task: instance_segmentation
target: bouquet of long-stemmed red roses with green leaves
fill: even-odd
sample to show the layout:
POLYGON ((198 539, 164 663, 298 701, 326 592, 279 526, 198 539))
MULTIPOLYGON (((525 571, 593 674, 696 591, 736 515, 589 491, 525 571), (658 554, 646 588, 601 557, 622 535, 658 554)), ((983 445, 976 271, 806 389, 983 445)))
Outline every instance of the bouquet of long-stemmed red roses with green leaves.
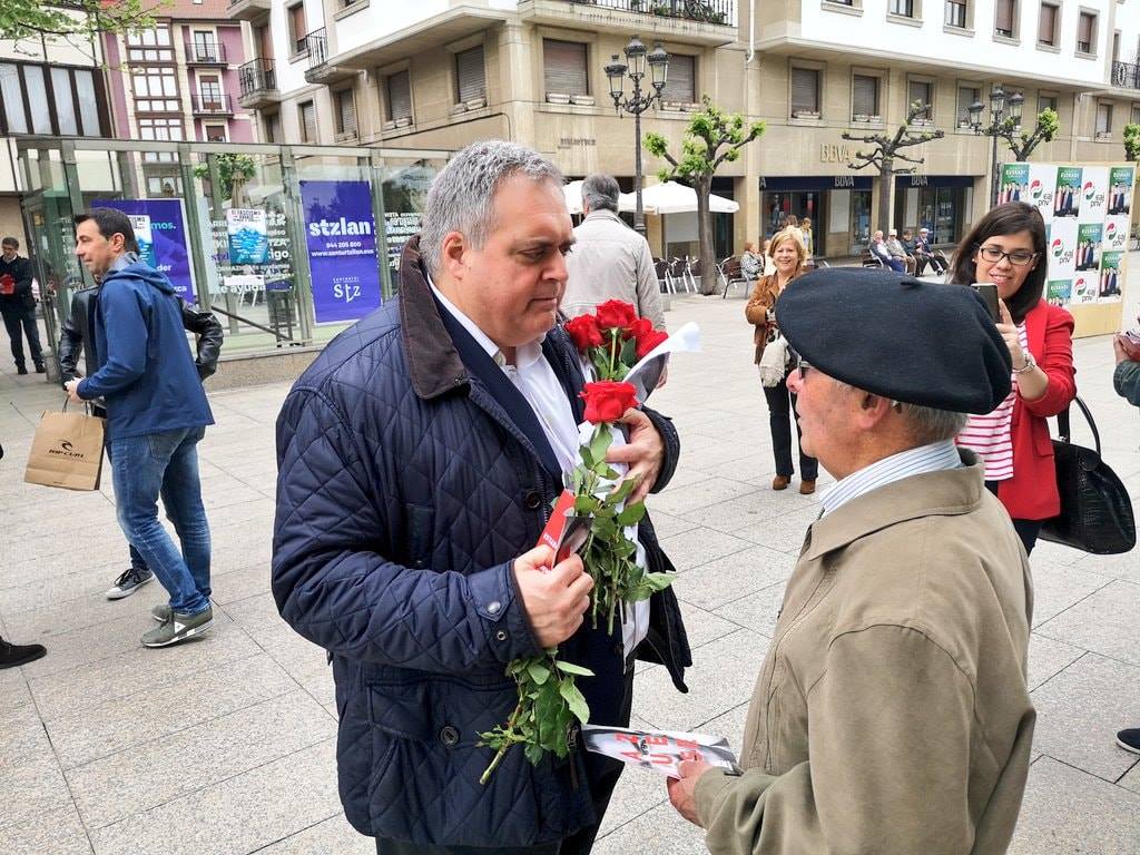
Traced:
MULTIPOLYGON (((638 404, 637 388, 626 382, 629 370, 669 336, 618 300, 601 303, 596 315, 568 321, 565 329, 578 345, 587 374, 595 376, 581 391, 586 423, 593 427, 584 425, 580 459, 569 477, 572 505, 560 499, 555 507, 556 512, 569 507, 567 513, 577 518, 579 530, 588 523, 580 552, 586 572, 594 578, 591 614, 595 627, 598 617, 605 616, 606 632, 612 634, 614 619, 626 603, 648 600, 673 581, 669 573, 649 573, 638 564, 636 526, 645 515, 645 505, 625 504, 636 483, 621 480, 622 473, 605 462, 605 453, 620 435, 618 421, 638 404)), ((625 441, 624 435, 620 441, 625 441)), ((589 707, 575 678, 594 673, 557 659, 557 648, 518 659, 506 673, 515 681, 519 700, 504 724, 479 734, 479 744, 496 750, 480 783, 487 783, 515 744, 524 747, 527 759, 535 765, 547 751, 565 757, 575 719, 581 724, 589 720, 589 707)))

